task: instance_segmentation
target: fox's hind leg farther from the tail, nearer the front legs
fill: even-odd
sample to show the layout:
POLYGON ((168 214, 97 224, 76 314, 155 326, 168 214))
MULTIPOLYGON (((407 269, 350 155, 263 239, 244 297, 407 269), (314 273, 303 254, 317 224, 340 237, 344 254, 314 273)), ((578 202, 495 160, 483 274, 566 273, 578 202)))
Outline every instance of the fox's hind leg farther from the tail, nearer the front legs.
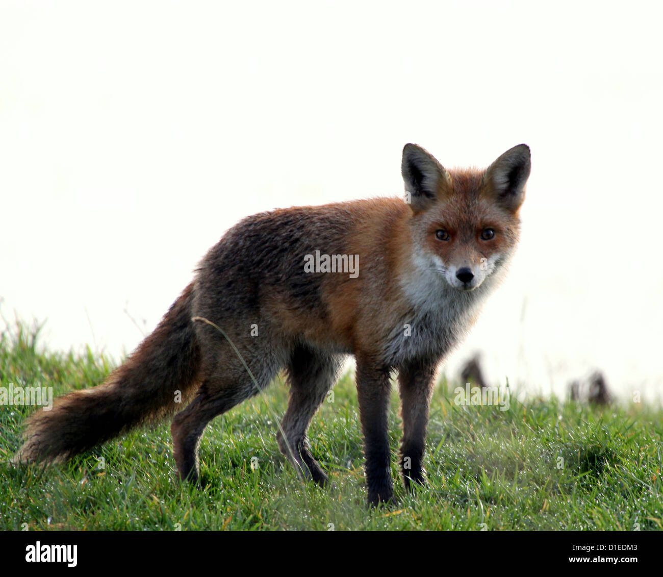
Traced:
POLYGON ((323 354, 306 346, 298 346, 287 365, 290 401, 277 434, 278 446, 301 476, 320 486, 328 478, 310 452, 306 432, 342 367, 343 355, 323 354))

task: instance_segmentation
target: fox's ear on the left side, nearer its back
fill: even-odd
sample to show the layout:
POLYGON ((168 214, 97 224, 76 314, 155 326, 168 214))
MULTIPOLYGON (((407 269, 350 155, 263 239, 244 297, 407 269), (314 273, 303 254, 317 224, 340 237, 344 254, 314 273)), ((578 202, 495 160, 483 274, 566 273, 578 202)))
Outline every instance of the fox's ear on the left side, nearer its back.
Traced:
POLYGON ((400 170, 405 190, 410 193, 408 202, 414 212, 426 210, 431 206, 450 183, 444 166, 432 154, 417 145, 404 146, 400 170))

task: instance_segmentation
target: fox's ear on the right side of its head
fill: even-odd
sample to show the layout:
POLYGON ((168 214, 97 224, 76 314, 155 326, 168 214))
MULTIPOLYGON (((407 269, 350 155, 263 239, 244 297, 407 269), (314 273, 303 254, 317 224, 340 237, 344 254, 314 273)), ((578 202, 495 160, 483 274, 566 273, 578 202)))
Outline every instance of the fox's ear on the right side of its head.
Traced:
POLYGON ((530 147, 518 145, 495 160, 486 169, 483 180, 495 200, 516 212, 525 200, 525 185, 531 168, 530 147))

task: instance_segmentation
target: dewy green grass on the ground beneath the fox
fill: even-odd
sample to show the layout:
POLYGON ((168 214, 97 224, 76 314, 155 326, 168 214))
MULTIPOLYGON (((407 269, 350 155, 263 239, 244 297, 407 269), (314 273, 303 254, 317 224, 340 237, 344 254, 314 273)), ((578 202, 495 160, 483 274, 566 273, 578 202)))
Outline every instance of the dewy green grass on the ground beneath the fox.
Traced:
MULTIPOLYGON (((42 350, 38 328, 0 338, 0 386, 91 387, 113 363, 42 350)), ((663 528, 663 411, 640 405, 593 409, 558 399, 459 406, 442 382, 432 401, 428 487, 406 493, 396 468, 398 395, 390 417, 399 504, 365 505, 357 398, 349 376, 312 422, 310 442, 334 483, 301 481, 276 444, 287 387, 217 417, 200 447, 204 489, 176 481, 168 422, 135 431, 57 466, 7 463, 34 407, 0 407, 0 529, 174 531, 633 530, 663 528), (258 467, 251 469, 251 459, 258 467), (103 468, 99 459, 103 458, 103 468), (562 458, 560 460, 560 458, 562 458)), ((41 409, 38 409, 41 410, 41 409)))

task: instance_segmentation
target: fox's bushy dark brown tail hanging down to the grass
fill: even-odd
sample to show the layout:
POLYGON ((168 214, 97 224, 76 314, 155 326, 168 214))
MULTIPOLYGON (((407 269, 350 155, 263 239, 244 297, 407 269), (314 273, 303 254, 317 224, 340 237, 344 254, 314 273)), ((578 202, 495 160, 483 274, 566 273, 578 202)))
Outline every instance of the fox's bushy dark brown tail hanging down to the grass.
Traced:
POLYGON ((13 462, 70 458, 127 430, 166 417, 198 384, 200 352, 191 321, 193 283, 154 332, 97 387, 56 399, 27 419, 25 442, 13 462))

